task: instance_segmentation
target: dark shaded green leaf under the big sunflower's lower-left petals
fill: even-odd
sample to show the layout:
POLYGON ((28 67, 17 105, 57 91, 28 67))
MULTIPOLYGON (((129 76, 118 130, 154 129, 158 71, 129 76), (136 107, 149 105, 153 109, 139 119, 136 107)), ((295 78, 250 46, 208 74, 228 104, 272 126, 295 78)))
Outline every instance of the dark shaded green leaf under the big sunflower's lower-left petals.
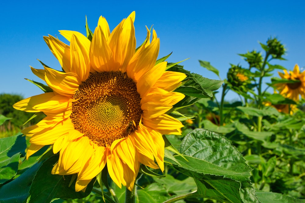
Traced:
POLYGON ((75 191, 75 182, 69 187, 72 175, 61 176, 51 173, 59 156, 52 156, 46 160, 37 171, 30 188, 28 202, 51 202, 57 198, 84 198, 88 196, 93 188, 95 178, 88 184, 85 192, 75 191))

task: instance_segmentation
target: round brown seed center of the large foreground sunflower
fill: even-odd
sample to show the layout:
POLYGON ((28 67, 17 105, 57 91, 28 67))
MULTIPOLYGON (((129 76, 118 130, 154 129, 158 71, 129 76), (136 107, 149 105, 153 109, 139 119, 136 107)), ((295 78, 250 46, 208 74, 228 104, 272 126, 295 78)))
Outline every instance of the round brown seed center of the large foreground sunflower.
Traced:
POLYGON ((90 73, 74 99, 70 118, 75 130, 99 146, 127 137, 140 122, 141 98, 135 82, 124 73, 90 73))

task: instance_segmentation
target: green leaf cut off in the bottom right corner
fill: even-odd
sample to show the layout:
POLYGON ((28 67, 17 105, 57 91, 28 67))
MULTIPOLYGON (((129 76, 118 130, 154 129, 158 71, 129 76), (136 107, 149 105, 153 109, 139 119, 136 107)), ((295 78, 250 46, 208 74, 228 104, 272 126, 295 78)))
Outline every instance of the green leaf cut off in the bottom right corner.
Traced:
POLYGON ((261 203, 304 203, 304 199, 295 199, 288 197, 284 194, 275 193, 275 192, 256 192, 258 199, 261 203))

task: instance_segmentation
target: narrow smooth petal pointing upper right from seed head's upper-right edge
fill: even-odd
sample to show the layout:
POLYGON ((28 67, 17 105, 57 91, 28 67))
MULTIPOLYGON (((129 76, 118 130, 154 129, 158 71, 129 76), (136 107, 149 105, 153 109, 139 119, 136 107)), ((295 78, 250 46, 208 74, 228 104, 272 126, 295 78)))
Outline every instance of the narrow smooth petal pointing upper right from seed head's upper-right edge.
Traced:
POLYGON ((146 72, 137 82, 137 90, 141 98, 146 96, 152 86, 154 86, 157 80, 163 75, 167 62, 161 62, 155 65, 152 69, 146 72))

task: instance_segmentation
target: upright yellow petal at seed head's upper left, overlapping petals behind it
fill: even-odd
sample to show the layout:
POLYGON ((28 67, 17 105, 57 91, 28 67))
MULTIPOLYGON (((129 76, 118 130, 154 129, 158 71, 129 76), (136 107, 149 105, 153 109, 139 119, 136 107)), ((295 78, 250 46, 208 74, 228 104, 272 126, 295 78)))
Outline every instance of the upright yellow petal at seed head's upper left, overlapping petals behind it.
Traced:
POLYGON ((71 37, 70 56, 71 72, 76 73, 81 81, 85 81, 90 72, 89 48, 85 47, 74 34, 71 37))

